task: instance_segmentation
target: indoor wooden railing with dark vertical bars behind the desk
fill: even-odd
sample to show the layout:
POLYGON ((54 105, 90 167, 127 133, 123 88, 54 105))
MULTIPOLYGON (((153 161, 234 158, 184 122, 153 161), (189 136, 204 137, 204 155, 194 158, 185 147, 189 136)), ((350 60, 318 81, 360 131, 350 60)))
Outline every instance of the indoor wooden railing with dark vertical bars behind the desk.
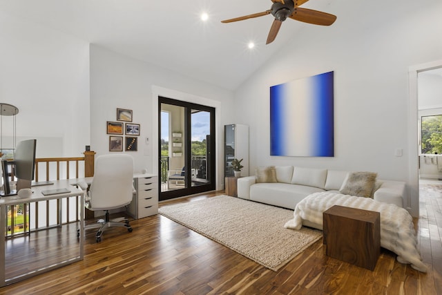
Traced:
MULTIPOLYGON (((95 152, 86 151, 84 157, 78 158, 37 158, 35 160, 35 181, 93 176, 94 155, 95 152), (41 175, 44 176, 41 177, 41 175)), ((80 217, 80 206, 83 205, 77 196, 8 206, 6 236, 55 227, 60 213, 62 223, 77 222, 80 217), (61 212, 58 210, 60 205, 61 212)))

